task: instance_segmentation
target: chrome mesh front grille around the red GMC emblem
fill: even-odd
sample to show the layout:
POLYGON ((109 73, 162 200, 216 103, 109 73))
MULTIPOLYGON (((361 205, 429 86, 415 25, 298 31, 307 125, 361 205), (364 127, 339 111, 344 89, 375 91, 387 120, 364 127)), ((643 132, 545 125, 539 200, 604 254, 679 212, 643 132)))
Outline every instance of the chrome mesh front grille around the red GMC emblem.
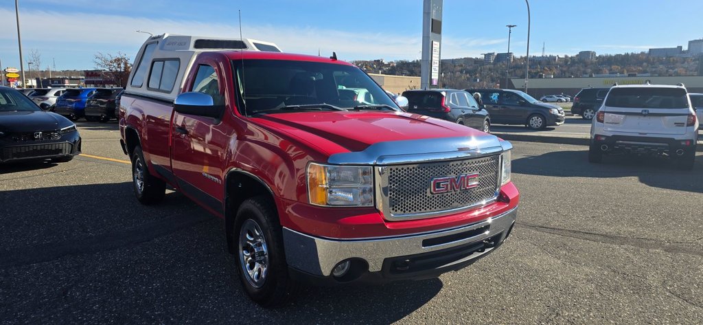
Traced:
POLYGON ((388 219, 433 217, 495 200, 501 156, 381 167, 381 208, 388 219), (472 189, 432 193, 432 179, 478 173, 472 189))

